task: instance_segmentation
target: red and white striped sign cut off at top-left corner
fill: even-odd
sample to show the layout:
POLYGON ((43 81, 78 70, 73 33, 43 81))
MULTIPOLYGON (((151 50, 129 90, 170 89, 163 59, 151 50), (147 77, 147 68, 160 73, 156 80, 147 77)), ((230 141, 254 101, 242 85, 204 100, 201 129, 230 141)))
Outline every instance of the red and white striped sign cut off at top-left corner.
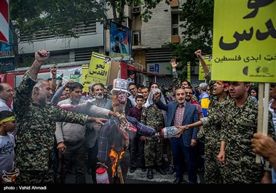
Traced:
POLYGON ((0 0, 0 42, 9 42, 9 2, 0 0))

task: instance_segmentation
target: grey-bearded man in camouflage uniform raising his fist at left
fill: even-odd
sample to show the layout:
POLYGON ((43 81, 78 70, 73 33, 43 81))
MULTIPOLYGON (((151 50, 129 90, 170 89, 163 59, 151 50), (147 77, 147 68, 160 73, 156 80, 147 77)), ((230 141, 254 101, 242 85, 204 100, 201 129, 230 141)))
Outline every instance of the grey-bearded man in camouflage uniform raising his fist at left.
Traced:
POLYGON ((50 52, 40 50, 24 74, 14 94, 14 112, 18 126, 15 168, 20 170, 17 183, 53 183, 53 147, 55 122, 66 121, 84 125, 87 121, 101 121, 84 114, 68 112, 50 104, 52 90, 47 80, 37 80, 43 61, 50 52))

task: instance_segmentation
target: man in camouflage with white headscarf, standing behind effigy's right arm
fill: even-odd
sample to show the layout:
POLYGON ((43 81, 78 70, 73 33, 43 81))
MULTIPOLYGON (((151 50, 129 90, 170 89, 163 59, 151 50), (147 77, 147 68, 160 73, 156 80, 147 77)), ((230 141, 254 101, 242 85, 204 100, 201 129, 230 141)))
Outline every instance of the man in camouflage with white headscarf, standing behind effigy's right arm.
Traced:
MULTIPOLYGON (((155 132, 157 133, 157 132, 161 132, 161 128, 164 128, 164 115, 162 113, 162 110, 159 110, 159 108, 157 108, 157 105, 155 105, 153 101, 153 94, 155 92, 161 93, 161 90, 159 88, 153 88, 152 91, 150 91, 148 100, 143 105, 143 110, 141 114, 141 123, 144 125, 148 125, 151 128, 154 128, 155 132)), ((163 99, 164 99, 164 96, 163 96, 163 99)), ((164 102, 165 102, 165 99, 164 99, 164 102)), ((155 161, 156 161, 155 170, 157 170, 157 172, 159 172, 160 174, 165 175, 166 171, 164 171, 162 168, 163 167, 162 158, 164 153, 164 139, 163 138, 157 139, 157 137, 155 136, 147 137, 144 151, 145 151, 146 167, 148 167, 148 173, 146 175, 147 178, 148 179, 153 178, 152 169, 155 165, 155 161)))

